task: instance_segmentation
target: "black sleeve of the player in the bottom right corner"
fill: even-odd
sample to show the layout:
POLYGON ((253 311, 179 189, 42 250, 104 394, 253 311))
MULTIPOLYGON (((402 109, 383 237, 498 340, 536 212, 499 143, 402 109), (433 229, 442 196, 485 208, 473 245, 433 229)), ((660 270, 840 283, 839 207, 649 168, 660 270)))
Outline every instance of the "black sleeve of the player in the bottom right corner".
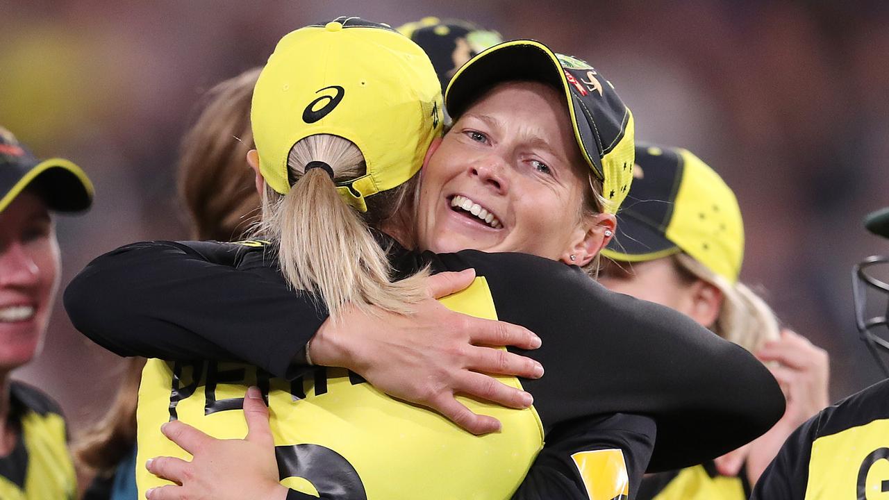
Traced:
POLYGON ((818 414, 789 435, 753 488, 751 500, 803 500, 809 481, 809 459, 818 432, 818 414))

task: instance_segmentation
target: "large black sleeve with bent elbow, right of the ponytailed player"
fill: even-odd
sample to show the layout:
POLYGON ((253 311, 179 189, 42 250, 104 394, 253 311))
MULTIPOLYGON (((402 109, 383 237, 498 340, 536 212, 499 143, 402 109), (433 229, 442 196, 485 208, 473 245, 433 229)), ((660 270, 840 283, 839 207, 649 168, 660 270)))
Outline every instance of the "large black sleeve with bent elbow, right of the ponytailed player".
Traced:
POLYGON ((784 413, 762 363, 676 310, 615 294, 576 267, 533 255, 467 250, 437 259, 448 270, 475 268, 498 318, 541 336, 540 349, 509 350, 546 369, 522 382, 544 426, 583 415, 653 416, 648 472, 659 472, 739 448, 784 413))

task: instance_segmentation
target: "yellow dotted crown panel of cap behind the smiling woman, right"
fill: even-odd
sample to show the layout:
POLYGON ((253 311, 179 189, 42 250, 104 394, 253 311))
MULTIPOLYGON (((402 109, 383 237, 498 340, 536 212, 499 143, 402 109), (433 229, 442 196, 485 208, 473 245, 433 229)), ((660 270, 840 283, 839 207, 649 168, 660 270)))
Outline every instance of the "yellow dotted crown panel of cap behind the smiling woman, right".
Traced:
POLYGON ((685 165, 666 237, 709 270, 738 281, 744 258, 741 207, 725 181, 685 149, 685 165))

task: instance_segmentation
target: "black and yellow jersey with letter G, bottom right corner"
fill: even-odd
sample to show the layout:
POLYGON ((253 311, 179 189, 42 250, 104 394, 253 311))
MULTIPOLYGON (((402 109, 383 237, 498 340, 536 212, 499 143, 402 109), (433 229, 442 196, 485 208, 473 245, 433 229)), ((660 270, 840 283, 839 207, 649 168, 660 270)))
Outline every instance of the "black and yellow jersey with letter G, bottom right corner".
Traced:
POLYGON ((761 500, 889 497, 889 380, 821 410, 790 434, 753 490, 761 500))

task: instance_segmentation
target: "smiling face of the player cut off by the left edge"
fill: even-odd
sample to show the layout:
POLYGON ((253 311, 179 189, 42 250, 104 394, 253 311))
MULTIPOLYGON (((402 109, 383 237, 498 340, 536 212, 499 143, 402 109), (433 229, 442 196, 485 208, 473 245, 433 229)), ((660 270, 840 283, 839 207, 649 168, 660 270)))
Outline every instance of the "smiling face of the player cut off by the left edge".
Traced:
POLYGON ((59 268, 52 218, 43 199, 26 190, 0 212, 0 374, 38 351, 59 268))

